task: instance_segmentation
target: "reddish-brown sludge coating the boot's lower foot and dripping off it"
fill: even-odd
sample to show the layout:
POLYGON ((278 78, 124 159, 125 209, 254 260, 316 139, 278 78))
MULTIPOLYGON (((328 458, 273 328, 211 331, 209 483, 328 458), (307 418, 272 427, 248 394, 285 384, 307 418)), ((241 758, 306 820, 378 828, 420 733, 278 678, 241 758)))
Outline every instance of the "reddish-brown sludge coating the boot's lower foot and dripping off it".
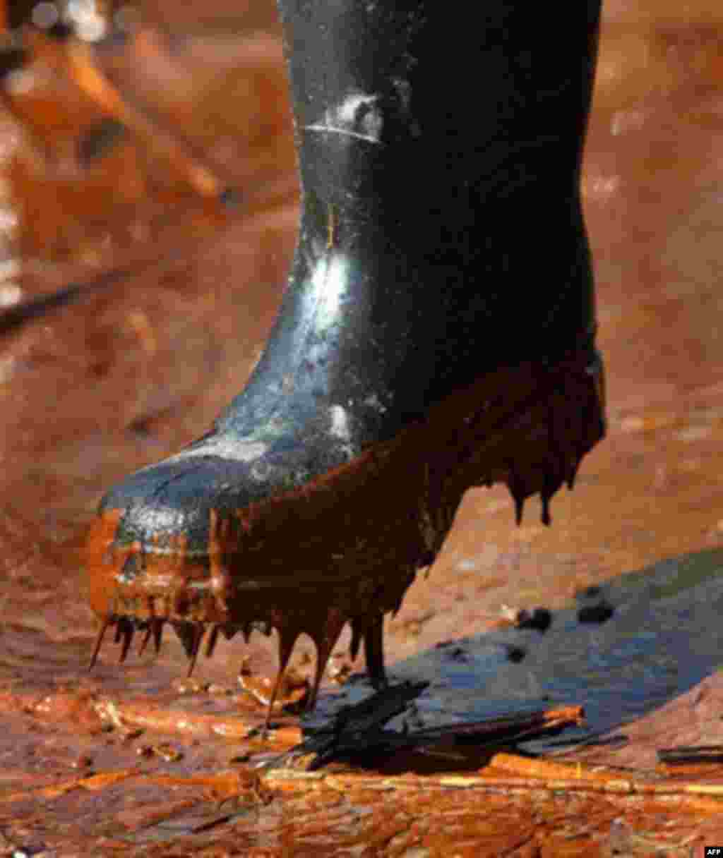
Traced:
POLYGON ((157 651, 169 622, 189 674, 204 636, 211 656, 220 633, 247 637, 263 625, 278 632, 269 707, 302 633, 317 649, 313 706, 349 622, 351 656, 363 639, 368 670, 382 682, 383 616, 398 610, 416 569, 439 550, 466 488, 507 483, 518 516, 525 498, 540 492, 546 511, 598 440, 600 390, 600 378, 576 354, 552 370, 528 365, 495 373, 347 467, 231 516, 210 511, 208 558, 187 553, 182 538, 116 547, 123 511, 106 512, 88 539, 90 600, 100 618, 91 665, 110 625, 124 661, 135 631, 143 632, 141 651, 151 638, 157 651), (131 564, 141 571, 130 576, 131 564))

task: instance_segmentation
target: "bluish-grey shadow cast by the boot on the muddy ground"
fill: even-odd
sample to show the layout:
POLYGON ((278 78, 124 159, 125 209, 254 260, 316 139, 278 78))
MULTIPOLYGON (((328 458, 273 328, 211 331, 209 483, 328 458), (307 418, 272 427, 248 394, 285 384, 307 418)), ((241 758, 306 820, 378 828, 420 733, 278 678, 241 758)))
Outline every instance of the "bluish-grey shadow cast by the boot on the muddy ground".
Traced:
POLYGON ((394 675, 433 677, 416 704, 425 724, 584 701, 580 738, 606 733, 719 667, 721 559, 720 551, 697 553, 624 575, 553 613, 547 631, 447 640, 398 663, 394 675))

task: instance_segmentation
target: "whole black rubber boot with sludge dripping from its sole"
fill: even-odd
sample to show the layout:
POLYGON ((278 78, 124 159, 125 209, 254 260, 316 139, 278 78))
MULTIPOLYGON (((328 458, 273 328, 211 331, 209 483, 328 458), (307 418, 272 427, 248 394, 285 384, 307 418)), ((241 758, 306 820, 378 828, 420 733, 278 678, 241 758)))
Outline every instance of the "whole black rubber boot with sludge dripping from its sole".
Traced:
MULTIPOLYGON (((302 184, 283 305, 194 444, 112 488, 90 597, 125 658, 167 620, 318 649, 345 623, 386 681, 382 620, 470 486, 544 521, 604 432, 580 208, 598 0, 281 0, 302 184), (562 27, 562 29, 561 29, 562 27)), ((263 284, 260 284, 263 287, 263 284)))

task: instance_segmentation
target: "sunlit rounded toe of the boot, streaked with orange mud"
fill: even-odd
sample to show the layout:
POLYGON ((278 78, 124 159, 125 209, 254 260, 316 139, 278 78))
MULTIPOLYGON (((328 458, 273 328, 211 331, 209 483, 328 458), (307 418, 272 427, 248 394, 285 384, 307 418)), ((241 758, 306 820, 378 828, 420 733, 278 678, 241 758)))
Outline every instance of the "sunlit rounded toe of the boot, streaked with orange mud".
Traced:
POLYGON ((186 450, 114 486, 88 539, 94 612, 149 628, 162 619, 228 624, 229 564, 250 485, 248 462, 186 450))

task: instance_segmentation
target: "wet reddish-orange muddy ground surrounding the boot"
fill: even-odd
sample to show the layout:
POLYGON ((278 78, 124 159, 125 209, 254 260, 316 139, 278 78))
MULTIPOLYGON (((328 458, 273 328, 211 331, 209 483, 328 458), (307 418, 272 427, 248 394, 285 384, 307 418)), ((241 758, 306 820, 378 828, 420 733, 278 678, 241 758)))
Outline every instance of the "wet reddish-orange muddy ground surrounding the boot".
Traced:
MULTIPOLYGON (((170 640, 157 660, 129 656, 121 668, 109 654, 93 674, 84 670, 94 620, 76 553, 101 493, 197 437, 240 389, 273 319, 297 209, 281 49, 271 15, 254 15, 247 27, 240 18, 229 26, 228 15, 221 27, 189 25, 191 36, 170 41, 151 27, 125 47, 99 49, 94 63, 140 117, 124 117, 125 135, 100 133, 108 131, 107 102, 100 109, 99 90, 91 97, 80 87, 82 57, 71 65, 41 43, 32 79, 15 79, 0 113, 0 758, 8 800, 0 847, 9 855, 15 846, 59 849, 86 837, 99 855, 128 854, 129 843, 171 854, 161 845, 179 837, 188 849, 210 848, 208 833, 192 832, 217 821, 207 793, 222 790, 220 782, 172 788, 126 779, 52 797, 37 790, 90 771, 240 772, 245 764, 232 760, 263 752, 246 738, 263 710, 240 697, 240 641, 199 660, 197 692, 173 686, 185 657, 170 640), (198 164, 208 172, 194 172, 198 164), (208 192, 226 187, 234 208, 208 192), (103 279, 120 269, 131 273, 103 279), (72 283, 82 288, 29 303, 72 283), (108 700, 126 707, 125 727, 104 732, 96 707, 108 700), (133 736, 131 706, 137 722, 145 719, 141 735, 133 736)), ((470 492, 434 568, 387 622, 386 661, 392 675, 432 680, 417 704, 425 724, 583 704, 588 735, 623 724, 617 734, 628 741, 591 745, 575 758, 649 773, 656 747, 723 739, 723 17, 703 0, 684 9, 608 3, 605 15, 584 190, 609 438, 586 459, 575 492, 554 500, 551 529, 538 524, 533 505, 514 529, 501 489, 470 492), (600 595, 591 594, 597 586, 600 595), (611 617, 581 623, 580 609, 601 600, 611 617), (548 631, 513 628, 508 618, 536 607, 550 609, 548 631)), ((256 674, 272 669, 271 643, 252 637, 256 674)), ((338 649, 348 644, 343 637, 338 649)), ((296 661, 311 674, 305 650, 312 653, 311 641, 296 661)), ((342 690, 349 700, 362 686, 342 690)), ((279 722, 289 731, 297 723, 293 715, 279 722)), ((581 735, 545 747, 560 752, 562 740, 581 735)), ((720 776, 711 769, 706 780, 720 776)), ((396 820, 366 782, 346 793, 279 790, 268 803, 245 783, 223 789, 235 797, 214 829, 219 855, 293 855, 293 843, 299 855, 353 855, 360 844, 369 855, 448 854, 452 818, 442 818, 453 809, 461 855, 485 854, 480 843, 499 854, 495 832, 514 826, 519 843, 505 848, 538 849, 520 855, 605 854, 614 842, 623 854, 647 855, 664 830, 659 820, 672 817, 669 854, 687 855, 718 831, 702 807, 665 817, 658 806, 634 810, 582 795, 540 798, 542 821, 531 833, 519 819, 532 800, 520 795, 485 794, 488 821, 477 802, 473 828, 459 792, 430 797, 411 782, 393 787, 404 805, 396 820), (314 834, 319 814, 325 827, 314 834), (374 832, 388 837, 374 840, 374 832)))

